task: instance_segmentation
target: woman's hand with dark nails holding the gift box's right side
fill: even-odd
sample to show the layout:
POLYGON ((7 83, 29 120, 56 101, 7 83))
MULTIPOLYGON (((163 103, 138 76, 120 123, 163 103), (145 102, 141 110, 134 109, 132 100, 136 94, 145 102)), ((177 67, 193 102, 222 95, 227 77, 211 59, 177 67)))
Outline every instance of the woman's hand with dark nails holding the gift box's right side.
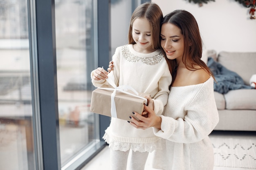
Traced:
POLYGON ((131 118, 129 122, 133 127, 139 129, 147 129, 150 127, 155 127, 161 129, 162 118, 157 116, 149 106, 144 105, 144 109, 148 112, 148 117, 144 117, 139 115, 139 113, 134 112, 134 116, 131 118), (134 117, 137 117, 139 121, 137 121, 134 117))

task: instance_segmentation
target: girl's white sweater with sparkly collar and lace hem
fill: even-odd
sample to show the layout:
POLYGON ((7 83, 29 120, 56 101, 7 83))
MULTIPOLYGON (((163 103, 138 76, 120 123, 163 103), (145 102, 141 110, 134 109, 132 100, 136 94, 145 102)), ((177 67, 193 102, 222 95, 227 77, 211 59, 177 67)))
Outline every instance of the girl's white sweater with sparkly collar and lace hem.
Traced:
MULTIPOLYGON (((155 112, 162 114, 172 78, 161 50, 153 53, 138 53, 133 49, 132 44, 128 44, 117 47, 112 60, 114 70, 111 73, 114 74, 115 84, 130 85, 137 92, 150 94, 154 100, 155 112)), ((92 79, 92 83, 96 87, 108 85, 106 80, 92 79)), ((159 137, 154 135, 152 128, 137 129, 127 121, 116 118, 111 119, 103 139, 113 150, 122 151, 132 149, 151 152, 159 144, 159 137)))

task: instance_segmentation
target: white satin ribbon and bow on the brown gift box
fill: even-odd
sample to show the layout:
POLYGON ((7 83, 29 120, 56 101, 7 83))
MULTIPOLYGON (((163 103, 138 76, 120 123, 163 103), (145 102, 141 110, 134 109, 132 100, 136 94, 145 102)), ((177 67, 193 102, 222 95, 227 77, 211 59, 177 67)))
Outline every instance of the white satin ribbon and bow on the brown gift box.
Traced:
POLYGON ((146 101, 146 104, 147 104, 148 100, 145 97, 139 96, 139 93, 137 91, 135 91, 135 89, 132 88, 131 86, 122 85, 122 86, 117 87, 115 82, 114 82, 114 77, 112 77, 111 74, 108 74, 108 78, 106 80, 114 88, 103 88, 103 87, 101 87, 100 89, 113 91, 113 93, 111 94, 111 117, 117 118, 117 109, 116 109, 116 104, 115 104, 115 95, 116 95, 117 91, 122 92, 122 93, 126 93, 126 94, 134 96, 134 97, 138 97, 140 99, 144 99, 146 101), (132 94, 132 93, 128 92, 128 90, 131 90, 135 94, 132 94))

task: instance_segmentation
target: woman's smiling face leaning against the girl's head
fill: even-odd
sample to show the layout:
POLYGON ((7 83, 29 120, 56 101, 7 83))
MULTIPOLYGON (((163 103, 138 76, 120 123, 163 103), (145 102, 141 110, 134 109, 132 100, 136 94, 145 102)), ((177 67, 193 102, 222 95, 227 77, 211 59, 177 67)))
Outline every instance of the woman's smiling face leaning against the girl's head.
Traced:
POLYGON ((170 60, 182 60, 184 38, 180 29, 171 23, 164 23, 161 29, 161 46, 170 60))

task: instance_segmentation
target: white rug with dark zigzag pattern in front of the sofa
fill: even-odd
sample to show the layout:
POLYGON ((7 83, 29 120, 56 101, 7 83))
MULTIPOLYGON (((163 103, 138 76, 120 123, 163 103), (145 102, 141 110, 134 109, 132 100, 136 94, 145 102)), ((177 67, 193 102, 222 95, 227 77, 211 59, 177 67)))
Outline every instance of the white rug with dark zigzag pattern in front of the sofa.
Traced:
POLYGON ((211 138, 214 166, 256 168, 256 140, 211 138))

